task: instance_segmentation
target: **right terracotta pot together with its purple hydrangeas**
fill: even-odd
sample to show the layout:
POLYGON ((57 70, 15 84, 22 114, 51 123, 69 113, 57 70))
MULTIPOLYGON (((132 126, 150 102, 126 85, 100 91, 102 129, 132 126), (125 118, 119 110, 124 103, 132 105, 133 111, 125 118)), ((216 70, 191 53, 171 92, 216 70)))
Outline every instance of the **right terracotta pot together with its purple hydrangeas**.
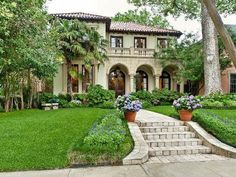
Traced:
POLYGON ((180 120, 182 121, 191 121, 193 117, 192 112, 202 107, 200 100, 193 95, 182 96, 174 100, 173 106, 179 112, 180 120))

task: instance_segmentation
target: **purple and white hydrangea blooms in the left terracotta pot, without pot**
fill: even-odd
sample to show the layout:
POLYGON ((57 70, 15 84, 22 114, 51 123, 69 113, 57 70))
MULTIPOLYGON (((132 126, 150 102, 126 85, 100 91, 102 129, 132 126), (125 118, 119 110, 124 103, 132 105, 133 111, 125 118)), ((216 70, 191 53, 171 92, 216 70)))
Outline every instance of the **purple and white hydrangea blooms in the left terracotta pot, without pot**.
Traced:
POLYGON ((140 109, 142 109, 142 103, 132 95, 118 96, 115 106, 118 110, 123 112, 138 112, 140 109))

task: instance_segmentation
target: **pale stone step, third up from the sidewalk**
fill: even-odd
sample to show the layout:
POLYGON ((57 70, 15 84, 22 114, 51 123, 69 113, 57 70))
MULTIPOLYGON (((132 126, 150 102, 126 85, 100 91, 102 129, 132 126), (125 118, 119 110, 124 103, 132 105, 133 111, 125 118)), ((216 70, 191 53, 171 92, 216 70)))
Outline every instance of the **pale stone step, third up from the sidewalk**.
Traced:
POLYGON ((195 138, 193 132, 158 132, 158 133, 142 133, 145 140, 159 140, 159 139, 183 139, 195 138))

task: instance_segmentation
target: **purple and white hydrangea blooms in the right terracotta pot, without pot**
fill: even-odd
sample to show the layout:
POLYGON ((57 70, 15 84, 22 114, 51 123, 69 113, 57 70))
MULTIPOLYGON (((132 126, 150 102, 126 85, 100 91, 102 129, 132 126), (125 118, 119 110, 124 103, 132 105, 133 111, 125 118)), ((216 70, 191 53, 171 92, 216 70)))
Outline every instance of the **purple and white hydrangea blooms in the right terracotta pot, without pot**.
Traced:
POLYGON ((200 104, 200 100, 194 97, 193 95, 190 96, 182 96, 177 100, 174 100, 173 107, 178 110, 189 110, 193 111, 195 109, 202 108, 200 104))

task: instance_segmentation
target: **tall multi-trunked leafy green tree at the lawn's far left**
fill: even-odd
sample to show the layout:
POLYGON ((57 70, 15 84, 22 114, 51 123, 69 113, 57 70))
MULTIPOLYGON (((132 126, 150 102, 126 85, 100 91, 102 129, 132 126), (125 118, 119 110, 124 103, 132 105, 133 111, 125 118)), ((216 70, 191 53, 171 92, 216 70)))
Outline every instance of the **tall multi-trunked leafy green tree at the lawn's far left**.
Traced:
POLYGON ((48 30, 49 17, 44 0, 0 2, 0 87, 5 97, 5 111, 21 108, 24 101, 32 106, 32 80, 56 73, 55 35, 48 30), (23 96, 24 90, 27 94, 23 96), (24 98, 23 98, 24 97, 24 98))

